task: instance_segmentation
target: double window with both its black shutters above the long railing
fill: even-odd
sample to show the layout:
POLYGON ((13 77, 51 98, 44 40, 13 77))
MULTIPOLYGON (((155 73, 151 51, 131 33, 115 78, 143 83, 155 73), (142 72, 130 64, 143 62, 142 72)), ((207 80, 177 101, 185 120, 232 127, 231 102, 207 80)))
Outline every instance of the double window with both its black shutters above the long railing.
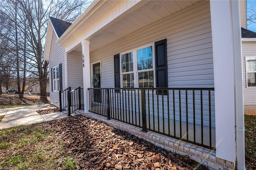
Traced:
POLYGON ((165 88, 166 39, 114 55, 115 87, 165 88))

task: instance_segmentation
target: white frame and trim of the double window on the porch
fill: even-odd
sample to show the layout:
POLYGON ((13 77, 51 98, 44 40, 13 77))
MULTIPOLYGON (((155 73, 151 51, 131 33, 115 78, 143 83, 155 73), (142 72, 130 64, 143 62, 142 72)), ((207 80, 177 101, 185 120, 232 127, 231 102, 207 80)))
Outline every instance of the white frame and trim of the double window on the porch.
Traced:
POLYGON ((151 70, 153 70, 153 74, 154 74, 154 88, 156 87, 156 68, 155 68, 155 46, 154 46, 154 43, 143 45, 143 46, 140 46, 138 48, 135 48, 135 49, 132 49, 132 50, 129 50, 129 51, 124 51, 124 52, 120 53, 120 59, 119 60, 120 60, 119 63, 120 63, 120 85, 121 85, 121 88, 123 88, 123 74, 134 73, 134 88, 138 88, 139 87, 138 72, 146 72, 146 71, 151 71, 151 70), (144 48, 150 47, 150 46, 152 46, 153 68, 152 69, 146 69, 146 70, 137 70, 137 50, 144 49, 144 48), (130 52, 133 52, 133 71, 122 73, 122 55, 130 53, 130 52))

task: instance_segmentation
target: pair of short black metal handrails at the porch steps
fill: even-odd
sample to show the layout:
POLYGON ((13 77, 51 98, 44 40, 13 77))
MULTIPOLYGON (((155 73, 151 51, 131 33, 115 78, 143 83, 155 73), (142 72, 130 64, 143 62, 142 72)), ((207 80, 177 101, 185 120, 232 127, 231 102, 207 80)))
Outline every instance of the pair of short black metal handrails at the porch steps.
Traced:
POLYGON ((77 109, 84 109, 84 88, 78 87, 71 90, 71 87, 68 87, 65 90, 59 91, 59 98, 60 111, 67 108, 68 116, 77 109))

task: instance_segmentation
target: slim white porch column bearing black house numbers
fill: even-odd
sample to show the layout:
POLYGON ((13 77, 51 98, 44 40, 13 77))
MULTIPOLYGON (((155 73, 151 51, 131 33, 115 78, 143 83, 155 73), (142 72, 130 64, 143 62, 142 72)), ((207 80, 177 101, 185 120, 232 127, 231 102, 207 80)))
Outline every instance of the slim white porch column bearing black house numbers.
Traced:
POLYGON ((82 64, 83 64, 83 82, 84 82, 84 112, 89 112, 89 91, 91 80, 90 80, 90 41, 84 40, 82 42, 82 64))

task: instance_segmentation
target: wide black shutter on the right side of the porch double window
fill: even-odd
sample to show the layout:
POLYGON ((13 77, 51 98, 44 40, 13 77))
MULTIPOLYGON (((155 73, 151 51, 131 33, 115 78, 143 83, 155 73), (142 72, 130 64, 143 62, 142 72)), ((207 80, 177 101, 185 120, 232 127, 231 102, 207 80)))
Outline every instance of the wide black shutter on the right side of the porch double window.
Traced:
POLYGON ((155 42, 156 87, 167 88, 167 45, 166 39, 155 42))

